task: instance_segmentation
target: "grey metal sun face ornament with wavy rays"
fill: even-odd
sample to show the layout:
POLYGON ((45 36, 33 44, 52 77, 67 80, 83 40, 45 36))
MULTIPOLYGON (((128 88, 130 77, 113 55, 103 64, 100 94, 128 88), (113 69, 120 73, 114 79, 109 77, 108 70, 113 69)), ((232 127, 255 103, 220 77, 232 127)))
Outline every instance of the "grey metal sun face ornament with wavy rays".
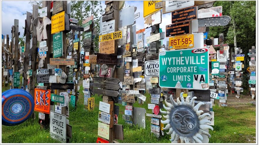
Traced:
POLYGON ((172 134, 170 141, 178 141, 180 139, 181 143, 202 143, 203 137, 201 134, 211 137, 205 130, 213 130, 210 125, 207 125, 207 123, 210 123, 207 120, 207 116, 210 116, 210 114, 204 113, 200 115, 203 111, 198 109, 204 103, 200 102, 194 106, 194 100, 197 97, 190 99, 190 96, 187 96, 185 101, 182 94, 183 92, 180 94, 181 101, 177 98, 177 102, 170 95, 172 104, 165 99, 165 104, 168 107, 165 104, 163 106, 167 111, 160 109, 161 113, 166 114, 166 116, 163 115, 166 120, 161 120, 161 123, 167 124, 163 129, 169 129, 169 132, 166 134, 172 134))

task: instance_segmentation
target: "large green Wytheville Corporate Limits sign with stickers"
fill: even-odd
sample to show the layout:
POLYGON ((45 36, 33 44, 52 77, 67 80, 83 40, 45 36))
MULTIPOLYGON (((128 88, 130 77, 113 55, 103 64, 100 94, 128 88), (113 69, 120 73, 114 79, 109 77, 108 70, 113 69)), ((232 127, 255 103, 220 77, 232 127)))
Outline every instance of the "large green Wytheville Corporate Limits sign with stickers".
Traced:
POLYGON ((159 53, 159 86, 207 90, 209 52, 207 48, 170 50, 159 53))

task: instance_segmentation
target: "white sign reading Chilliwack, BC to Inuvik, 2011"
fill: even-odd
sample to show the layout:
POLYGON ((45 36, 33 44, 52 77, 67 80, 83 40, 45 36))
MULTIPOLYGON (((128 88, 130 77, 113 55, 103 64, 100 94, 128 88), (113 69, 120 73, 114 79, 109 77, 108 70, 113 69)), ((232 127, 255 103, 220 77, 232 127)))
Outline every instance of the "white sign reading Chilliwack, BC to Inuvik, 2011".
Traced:
POLYGON ((165 1, 165 12, 194 6, 194 1, 165 1))

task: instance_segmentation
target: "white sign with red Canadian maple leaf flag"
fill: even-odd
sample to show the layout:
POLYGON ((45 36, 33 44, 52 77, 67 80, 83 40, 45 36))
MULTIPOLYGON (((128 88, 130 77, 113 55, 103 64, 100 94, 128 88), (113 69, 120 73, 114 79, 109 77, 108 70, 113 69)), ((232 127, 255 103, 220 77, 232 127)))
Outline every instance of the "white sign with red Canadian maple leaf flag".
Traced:
POLYGON ((198 10, 198 18, 210 18, 218 16, 222 16, 222 6, 198 10))

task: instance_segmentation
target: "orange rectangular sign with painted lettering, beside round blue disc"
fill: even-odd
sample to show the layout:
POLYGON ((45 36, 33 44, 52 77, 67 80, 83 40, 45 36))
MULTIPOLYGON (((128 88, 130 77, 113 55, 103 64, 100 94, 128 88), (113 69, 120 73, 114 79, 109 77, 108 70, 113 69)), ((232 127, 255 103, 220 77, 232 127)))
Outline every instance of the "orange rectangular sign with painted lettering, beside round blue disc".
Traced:
POLYGON ((50 90, 34 89, 34 111, 49 114, 50 90))

